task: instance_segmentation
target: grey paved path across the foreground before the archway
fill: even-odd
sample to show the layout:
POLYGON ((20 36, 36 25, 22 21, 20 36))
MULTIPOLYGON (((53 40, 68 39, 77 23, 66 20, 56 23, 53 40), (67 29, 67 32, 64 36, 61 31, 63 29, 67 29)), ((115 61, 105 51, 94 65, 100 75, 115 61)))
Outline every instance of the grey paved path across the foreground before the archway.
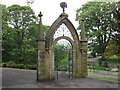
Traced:
POLYGON ((93 78, 36 82, 35 70, 4 68, 0 73, 3 88, 118 88, 118 83, 93 78))

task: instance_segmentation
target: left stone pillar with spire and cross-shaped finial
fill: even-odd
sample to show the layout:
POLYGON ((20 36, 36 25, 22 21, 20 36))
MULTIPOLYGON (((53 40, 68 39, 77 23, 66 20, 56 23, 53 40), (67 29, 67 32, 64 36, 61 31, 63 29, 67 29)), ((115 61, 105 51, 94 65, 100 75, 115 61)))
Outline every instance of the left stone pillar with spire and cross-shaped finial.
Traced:
POLYGON ((37 59, 37 81, 43 81, 45 77, 45 38, 42 25, 42 14, 38 15, 40 17, 39 21, 39 31, 38 31, 38 59, 37 59))

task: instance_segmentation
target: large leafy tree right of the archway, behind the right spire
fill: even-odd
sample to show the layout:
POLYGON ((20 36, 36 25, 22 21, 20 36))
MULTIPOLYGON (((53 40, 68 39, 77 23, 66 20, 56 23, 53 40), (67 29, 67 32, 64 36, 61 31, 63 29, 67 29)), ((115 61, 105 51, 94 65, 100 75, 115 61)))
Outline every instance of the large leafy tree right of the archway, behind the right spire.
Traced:
POLYGON ((89 47, 94 53, 104 58, 106 47, 112 37, 113 17, 112 2, 88 2, 77 9, 76 20, 79 22, 79 29, 82 20, 85 20, 89 47))

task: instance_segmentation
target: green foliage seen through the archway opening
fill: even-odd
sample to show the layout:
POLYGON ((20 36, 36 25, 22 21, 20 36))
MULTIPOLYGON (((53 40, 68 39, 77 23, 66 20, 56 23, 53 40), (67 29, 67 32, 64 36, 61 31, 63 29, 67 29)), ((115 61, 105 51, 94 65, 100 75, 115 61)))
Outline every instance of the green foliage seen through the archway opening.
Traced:
POLYGON ((58 71, 67 71, 69 69, 70 63, 69 60, 71 61, 72 58, 72 52, 65 48, 70 48, 70 46, 64 46, 64 45, 55 45, 55 70, 58 71))

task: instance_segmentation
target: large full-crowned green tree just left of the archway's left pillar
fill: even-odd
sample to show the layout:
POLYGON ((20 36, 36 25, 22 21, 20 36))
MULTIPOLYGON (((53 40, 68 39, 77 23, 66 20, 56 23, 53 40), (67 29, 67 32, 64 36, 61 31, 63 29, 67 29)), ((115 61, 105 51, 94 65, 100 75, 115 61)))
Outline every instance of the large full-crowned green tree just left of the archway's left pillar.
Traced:
POLYGON ((28 6, 12 5, 7 8, 7 11, 9 19, 6 21, 8 22, 6 27, 9 26, 9 29, 7 28, 7 32, 3 29, 3 48, 5 49, 3 54, 8 52, 13 57, 9 59, 25 63, 33 59, 29 57, 30 55, 35 54, 34 29, 31 28, 34 27, 37 18, 28 6), (10 51, 6 47, 11 48, 10 51))

